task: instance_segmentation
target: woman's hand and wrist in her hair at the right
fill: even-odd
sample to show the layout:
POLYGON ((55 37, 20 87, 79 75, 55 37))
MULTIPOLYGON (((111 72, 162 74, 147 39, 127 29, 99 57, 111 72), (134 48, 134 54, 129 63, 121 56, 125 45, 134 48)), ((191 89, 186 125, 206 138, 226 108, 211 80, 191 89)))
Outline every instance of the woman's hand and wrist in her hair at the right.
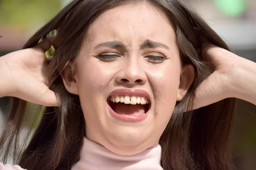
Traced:
POLYGON ((193 109, 235 97, 256 105, 256 63, 205 42, 203 59, 212 65, 210 74, 197 88, 193 109))

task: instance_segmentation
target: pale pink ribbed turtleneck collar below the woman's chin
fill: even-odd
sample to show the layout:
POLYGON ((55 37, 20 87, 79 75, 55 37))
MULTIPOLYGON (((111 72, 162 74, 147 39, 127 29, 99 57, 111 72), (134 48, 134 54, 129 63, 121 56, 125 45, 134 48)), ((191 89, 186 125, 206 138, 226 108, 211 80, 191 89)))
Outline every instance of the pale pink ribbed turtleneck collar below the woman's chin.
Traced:
POLYGON ((80 160, 72 170, 163 170, 160 166, 161 147, 144 150, 132 156, 122 156, 84 138, 80 160))

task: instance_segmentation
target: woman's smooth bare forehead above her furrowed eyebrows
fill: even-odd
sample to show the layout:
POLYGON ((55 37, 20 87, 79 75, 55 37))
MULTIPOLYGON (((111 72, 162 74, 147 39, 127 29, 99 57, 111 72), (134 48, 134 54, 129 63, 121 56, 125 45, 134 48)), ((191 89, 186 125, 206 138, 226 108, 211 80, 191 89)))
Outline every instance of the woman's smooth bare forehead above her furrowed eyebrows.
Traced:
POLYGON ((87 35, 90 43, 116 39, 127 43, 145 39, 173 43, 175 32, 159 8, 146 2, 130 3, 102 13, 90 26, 87 35))

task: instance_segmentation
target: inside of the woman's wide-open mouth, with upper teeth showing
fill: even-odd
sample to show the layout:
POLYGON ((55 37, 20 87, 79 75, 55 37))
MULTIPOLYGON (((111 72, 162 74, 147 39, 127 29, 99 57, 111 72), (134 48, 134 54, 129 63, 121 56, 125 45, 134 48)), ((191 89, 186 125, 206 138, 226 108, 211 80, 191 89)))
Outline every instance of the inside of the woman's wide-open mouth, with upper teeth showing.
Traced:
POLYGON ((144 96, 112 95, 107 102, 117 114, 132 116, 143 116, 151 106, 149 99, 144 96))

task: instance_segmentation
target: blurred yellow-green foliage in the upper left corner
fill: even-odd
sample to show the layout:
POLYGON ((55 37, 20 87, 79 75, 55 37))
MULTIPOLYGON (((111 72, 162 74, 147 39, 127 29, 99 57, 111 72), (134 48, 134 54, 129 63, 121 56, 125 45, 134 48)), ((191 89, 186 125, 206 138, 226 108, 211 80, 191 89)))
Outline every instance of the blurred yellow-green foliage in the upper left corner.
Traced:
POLYGON ((33 28, 61 9, 61 0, 0 0, 0 25, 33 28))

